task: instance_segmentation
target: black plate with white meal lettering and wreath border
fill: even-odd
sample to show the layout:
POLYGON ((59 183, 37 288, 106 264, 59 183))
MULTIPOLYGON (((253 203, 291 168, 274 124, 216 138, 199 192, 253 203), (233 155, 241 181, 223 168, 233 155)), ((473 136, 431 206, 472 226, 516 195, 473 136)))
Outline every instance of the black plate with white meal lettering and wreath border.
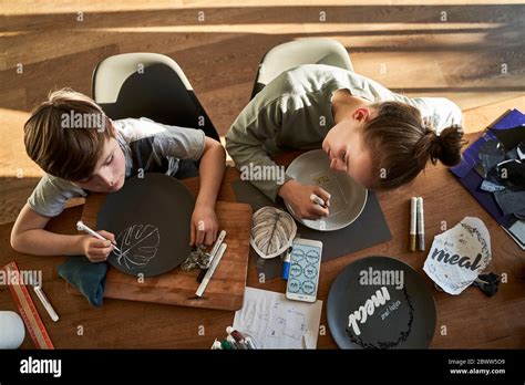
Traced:
POLYGON ((327 315, 340 348, 424 348, 432 341, 436 321, 434 298, 423 278, 406 263, 389 257, 368 257, 347 266, 330 288, 327 315), (403 284, 392 282, 390 278, 395 275, 388 272, 398 272, 398 277, 402 272, 403 284), (370 277, 383 280, 364 281, 370 277), (384 301, 380 301, 378 291, 384 301), (361 305, 369 310, 364 323, 359 320, 363 319, 361 305), (356 311, 359 316, 350 319, 356 311))

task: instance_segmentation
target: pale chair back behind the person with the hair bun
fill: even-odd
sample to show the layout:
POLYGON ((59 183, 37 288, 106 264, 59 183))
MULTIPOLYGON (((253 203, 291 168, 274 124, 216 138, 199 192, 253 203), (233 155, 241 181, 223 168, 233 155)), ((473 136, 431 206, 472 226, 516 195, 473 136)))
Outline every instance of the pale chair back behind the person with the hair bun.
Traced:
POLYGON ((285 71, 301 64, 327 64, 353 71, 346 48, 332 39, 302 39, 274 46, 259 64, 251 97, 285 71))

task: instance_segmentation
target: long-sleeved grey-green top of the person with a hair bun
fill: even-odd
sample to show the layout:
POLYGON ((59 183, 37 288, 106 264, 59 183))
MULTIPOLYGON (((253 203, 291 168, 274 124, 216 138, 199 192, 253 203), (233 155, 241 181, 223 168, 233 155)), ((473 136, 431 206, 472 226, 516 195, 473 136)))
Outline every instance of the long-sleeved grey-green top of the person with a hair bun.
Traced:
MULTIPOLYGON (((236 167, 249 167, 250 163, 275 167, 268 154, 284 148, 321 148, 334 125, 332 95, 342 89, 371 102, 398 101, 413 105, 423 118, 430 119, 437 134, 462 121, 460 107, 447 98, 408 97, 348 70, 323 64, 300 65, 266 85, 229 128, 226 149, 236 167)), ((251 183, 268 198, 277 198, 280 186, 275 180, 251 183)))

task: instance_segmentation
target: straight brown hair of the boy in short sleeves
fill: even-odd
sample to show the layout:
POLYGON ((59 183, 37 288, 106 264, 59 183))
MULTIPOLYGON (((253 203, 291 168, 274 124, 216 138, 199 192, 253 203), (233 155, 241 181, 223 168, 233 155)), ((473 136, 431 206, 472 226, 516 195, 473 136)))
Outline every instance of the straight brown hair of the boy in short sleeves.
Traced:
POLYGON ((45 173, 79 181, 95 170, 111 122, 89 96, 71 89, 50 92, 23 127, 25 150, 45 173))

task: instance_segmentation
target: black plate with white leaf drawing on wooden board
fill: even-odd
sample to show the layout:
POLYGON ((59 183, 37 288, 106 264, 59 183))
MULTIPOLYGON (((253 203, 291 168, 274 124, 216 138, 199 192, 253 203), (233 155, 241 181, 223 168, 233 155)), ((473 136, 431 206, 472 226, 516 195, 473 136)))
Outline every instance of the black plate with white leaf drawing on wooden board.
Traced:
POLYGON ((174 177, 144 174, 126 179, 122 189, 107 195, 99 212, 96 228, 113 232, 123 251, 112 252, 107 262, 131 275, 175 269, 191 252, 194 207, 194 196, 174 177))

